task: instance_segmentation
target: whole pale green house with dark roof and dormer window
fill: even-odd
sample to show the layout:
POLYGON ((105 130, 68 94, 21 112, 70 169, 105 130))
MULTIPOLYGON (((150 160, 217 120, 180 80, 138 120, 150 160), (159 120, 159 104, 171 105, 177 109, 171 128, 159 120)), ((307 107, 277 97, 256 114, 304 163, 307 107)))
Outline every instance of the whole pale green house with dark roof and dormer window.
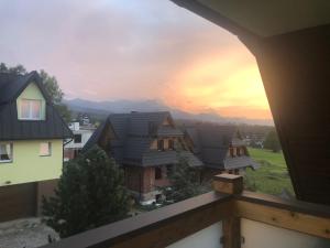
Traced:
POLYGON ((62 174, 70 137, 36 72, 0 74, 0 220, 36 213, 62 174))

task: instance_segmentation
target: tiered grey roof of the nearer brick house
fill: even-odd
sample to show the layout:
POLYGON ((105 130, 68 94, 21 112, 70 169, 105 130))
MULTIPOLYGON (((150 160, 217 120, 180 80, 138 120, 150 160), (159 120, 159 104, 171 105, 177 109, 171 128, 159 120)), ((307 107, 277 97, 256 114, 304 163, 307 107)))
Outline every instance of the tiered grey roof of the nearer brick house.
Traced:
MULTIPOLYGON (((177 157, 175 151, 150 151, 152 141, 158 136, 184 136, 175 127, 161 127, 167 118, 172 120, 168 111, 110 115, 92 134, 84 150, 86 151, 98 143, 106 123, 111 123, 118 138, 111 142, 111 152, 119 163, 140 166, 176 163, 177 157)), ((190 152, 185 152, 185 157, 187 157, 191 166, 201 164, 190 152)))

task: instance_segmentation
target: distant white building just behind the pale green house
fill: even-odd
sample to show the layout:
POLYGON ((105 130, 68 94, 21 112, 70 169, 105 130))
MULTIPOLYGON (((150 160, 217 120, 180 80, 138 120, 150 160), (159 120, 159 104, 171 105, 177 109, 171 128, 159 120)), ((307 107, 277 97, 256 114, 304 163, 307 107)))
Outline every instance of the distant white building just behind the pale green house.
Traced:
POLYGON ((74 137, 65 142, 64 161, 75 159, 96 130, 92 125, 80 125, 79 122, 72 122, 69 129, 74 137))

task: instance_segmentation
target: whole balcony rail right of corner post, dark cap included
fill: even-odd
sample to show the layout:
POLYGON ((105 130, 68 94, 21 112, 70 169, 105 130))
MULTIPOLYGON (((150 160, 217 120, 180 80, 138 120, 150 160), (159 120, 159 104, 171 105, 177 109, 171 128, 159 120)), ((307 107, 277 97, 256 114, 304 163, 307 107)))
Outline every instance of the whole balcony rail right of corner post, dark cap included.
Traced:
POLYGON ((234 215, 279 228, 330 239, 330 207, 288 202, 274 196, 245 192, 235 196, 234 215))

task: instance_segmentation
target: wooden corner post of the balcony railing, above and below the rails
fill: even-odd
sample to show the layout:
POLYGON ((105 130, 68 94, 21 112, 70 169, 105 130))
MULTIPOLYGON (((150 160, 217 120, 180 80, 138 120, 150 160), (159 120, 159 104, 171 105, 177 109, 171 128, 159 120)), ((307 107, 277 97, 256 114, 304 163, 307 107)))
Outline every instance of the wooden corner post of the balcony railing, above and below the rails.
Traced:
MULTIPOLYGON (((220 174, 213 177, 213 188, 226 194, 240 194, 243 191, 243 177, 233 174, 220 174)), ((228 216, 222 220, 223 248, 241 247, 241 219, 228 216)))

